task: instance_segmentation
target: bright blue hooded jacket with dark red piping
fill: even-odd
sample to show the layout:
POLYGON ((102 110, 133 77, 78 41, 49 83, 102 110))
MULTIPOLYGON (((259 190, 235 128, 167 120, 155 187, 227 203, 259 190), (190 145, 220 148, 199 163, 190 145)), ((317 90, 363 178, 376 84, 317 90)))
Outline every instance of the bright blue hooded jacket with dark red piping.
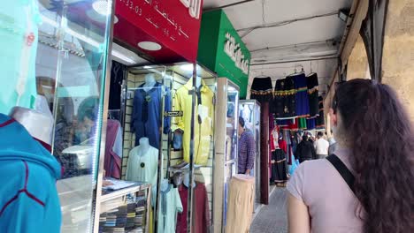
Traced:
POLYGON ((11 117, 0 114, 0 231, 60 232, 55 157, 11 117))

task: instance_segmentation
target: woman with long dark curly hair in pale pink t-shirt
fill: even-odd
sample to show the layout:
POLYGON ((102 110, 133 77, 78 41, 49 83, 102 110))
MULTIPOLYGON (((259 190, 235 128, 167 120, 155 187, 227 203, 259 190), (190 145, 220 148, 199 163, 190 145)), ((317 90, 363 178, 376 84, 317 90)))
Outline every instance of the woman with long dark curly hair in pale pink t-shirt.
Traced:
POLYGON ((395 92, 352 79, 337 87, 329 114, 335 155, 295 170, 289 232, 414 232, 414 130, 395 92))

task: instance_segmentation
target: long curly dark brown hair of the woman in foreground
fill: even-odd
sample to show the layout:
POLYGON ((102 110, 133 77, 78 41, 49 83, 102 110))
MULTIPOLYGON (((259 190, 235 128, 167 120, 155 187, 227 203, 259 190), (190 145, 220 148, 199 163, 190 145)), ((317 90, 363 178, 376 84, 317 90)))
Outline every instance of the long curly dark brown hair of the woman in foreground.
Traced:
POLYGON ((414 232, 414 132, 395 92, 354 79, 338 86, 332 107, 352 147, 364 232, 414 232))

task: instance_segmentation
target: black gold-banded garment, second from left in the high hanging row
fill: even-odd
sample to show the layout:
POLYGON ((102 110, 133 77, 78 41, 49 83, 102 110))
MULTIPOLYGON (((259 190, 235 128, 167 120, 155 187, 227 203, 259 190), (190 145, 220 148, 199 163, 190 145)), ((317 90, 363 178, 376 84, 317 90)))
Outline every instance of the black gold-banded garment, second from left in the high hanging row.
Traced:
POLYGON ((276 118, 296 116, 296 89, 294 77, 279 79, 274 86, 273 112, 276 118))

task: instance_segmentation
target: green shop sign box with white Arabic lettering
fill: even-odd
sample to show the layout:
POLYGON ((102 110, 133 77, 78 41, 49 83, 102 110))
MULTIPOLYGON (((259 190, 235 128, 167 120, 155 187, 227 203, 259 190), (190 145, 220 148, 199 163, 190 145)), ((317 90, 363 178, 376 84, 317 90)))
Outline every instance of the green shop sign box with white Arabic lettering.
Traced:
POLYGON ((246 98, 250 52, 223 10, 203 13, 198 62, 240 87, 246 98))

